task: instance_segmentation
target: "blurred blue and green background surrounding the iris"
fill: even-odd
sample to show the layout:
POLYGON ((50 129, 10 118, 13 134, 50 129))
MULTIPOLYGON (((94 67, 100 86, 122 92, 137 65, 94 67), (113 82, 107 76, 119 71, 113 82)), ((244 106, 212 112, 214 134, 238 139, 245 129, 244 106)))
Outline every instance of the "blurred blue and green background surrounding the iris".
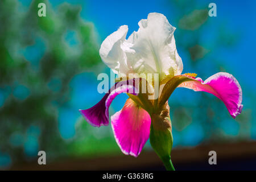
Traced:
MULTIPOLYGON (((98 50, 119 26, 128 35, 151 12, 177 29, 183 73, 217 72, 240 82, 243 111, 230 117, 208 93, 178 88, 170 97, 176 169, 256 169, 256 1, 0 1, 0 169, 164 169, 149 141, 138 158, 123 155, 112 128, 90 126, 79 109, 96 104, 98 50), (38 3, 46 17, 38 17, 38 3), (217 17, 208 5, 217 5, 217 17), (37 164, 46 151, 47 165, 37 164), (208 152, 217 152, 217 165, 208 152)), ((122 108, 117 96, 110 114, 122 108)))

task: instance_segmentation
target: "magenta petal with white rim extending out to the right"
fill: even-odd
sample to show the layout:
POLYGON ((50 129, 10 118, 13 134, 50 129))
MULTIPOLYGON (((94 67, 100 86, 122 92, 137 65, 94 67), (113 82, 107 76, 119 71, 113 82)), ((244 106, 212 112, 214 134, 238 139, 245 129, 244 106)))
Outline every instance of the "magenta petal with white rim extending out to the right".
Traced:
POLYGON ((229 73, 216 73, 205 81, 201 78, 195 78, 192 81, 183 82, 179 87, 212 93, 224 102, 233 118, 236 118, 236 116, 242 111, 241 86, 236 78, 229 73))

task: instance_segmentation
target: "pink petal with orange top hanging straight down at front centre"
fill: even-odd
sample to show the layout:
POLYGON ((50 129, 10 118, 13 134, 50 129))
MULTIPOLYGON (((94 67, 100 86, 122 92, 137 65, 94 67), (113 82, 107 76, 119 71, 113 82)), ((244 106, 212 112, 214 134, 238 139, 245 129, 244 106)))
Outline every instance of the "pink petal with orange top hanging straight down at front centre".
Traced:
POLYGON ((111 117, 115 140, 122 152, 137 157, 150 136, 151 118, 128 98, 122 110, 111 117))

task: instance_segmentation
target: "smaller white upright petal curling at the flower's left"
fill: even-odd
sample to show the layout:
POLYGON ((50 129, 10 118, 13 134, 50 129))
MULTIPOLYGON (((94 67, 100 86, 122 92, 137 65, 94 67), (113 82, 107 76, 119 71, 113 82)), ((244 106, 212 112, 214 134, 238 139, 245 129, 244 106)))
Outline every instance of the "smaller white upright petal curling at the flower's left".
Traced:
POLYGON ((123 25, 119 27, 117 31, 113 32, 113 34, 109 35, 101 44, 101 59, 116 74, 120 71, 127 72, 125 53, 121 49, 121 45, 125 41, 127 31, 128 27, 123 25))

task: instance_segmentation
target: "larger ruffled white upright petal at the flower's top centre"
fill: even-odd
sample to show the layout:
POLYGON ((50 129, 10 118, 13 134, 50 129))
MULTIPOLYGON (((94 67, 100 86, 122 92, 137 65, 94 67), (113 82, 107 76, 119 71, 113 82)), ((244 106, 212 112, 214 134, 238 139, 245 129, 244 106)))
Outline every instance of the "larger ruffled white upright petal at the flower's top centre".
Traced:
POLYGON ((128 67, 135 73, 159 73, 160 78, 180 75, 183 63, 176 50, 174 31, 175 27, 163 14, 148 14, 147 19, 139 22, 139 30, 127 40, 131 45, 125 51, 128 67))

